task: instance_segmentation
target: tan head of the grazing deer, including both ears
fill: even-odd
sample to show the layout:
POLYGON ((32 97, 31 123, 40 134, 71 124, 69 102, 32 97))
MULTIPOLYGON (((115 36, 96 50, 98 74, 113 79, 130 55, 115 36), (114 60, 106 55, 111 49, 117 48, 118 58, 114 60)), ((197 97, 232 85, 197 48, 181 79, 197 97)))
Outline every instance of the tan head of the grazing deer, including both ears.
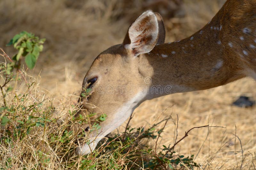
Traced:
MULTIPOLYGON (((93 151, 100 139, 129 118, 140 103, 152 98, 147 92, 154 70, 149 64, 143 64, 147 58, 141 54, 149 53, 156 44, 164 43, 164 39, 162 17, 145 11, 130 25, 122 44, 108 48, 93 61, 83 81, 83 89, 90 89, 90 95, 81 96, 80 100, 86 111, 80 111, 77 116, 104 113, 107 117, 98 131, 88 133, 90 144, 80 143, 76 153, 93 151)), ((80 127, 86 131, 89 128, 90 124, 80 127)))

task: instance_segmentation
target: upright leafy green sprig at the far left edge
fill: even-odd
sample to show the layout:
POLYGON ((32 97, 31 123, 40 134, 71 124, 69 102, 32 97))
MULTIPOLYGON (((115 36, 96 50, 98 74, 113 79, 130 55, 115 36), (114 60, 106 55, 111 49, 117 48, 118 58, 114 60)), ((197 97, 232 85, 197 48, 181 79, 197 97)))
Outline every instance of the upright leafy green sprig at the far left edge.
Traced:
MULTIPOLYGON (((20 72, 20 62, 22 60, 22 57, 25 57, 25 62, 28 68, 30 69, 34 68, 36 64, 36 60, 38 59, 39 53, 43 50, 44 41, 45 39, 39 39, 39 37, 36 37, 32 33, 22 31, 19 34, 16 34, 7 44, 7 46, 13 45, 13 47, 18 50, 18 53, 16 53, 12 57, 12 59, 1 48, 1 51, 3 52, 3 54, 1 55, 10 61, 9 63, 0 63, 0 74, 3 74, 3 76, 5 76, 4 84, 0 85, 3 100, 4 100, 4 107, 0 109, 1 112, 6 109, 9 109, 8 103, 6 102, 6 92, 8 93, 12 91, 12 94, 14 94, 14 90, 16 89, 17 82, 20 81, 19 74, 23 76, 23 74, 20 72), (16 68, 16 74, 13 72, 14 68, 16 68), (8 83, 13 80, 15 80, 14 86, 7 87, 8 83), (6 88, 6 90, 4 88, 6 88)), ((13 96, 14 95, 12 95, 12 97, 13 96)), ((5 116, 5 113, 1 114, 0 119, 1 119, 2 126, 5 126, 10 121, 5 116)))

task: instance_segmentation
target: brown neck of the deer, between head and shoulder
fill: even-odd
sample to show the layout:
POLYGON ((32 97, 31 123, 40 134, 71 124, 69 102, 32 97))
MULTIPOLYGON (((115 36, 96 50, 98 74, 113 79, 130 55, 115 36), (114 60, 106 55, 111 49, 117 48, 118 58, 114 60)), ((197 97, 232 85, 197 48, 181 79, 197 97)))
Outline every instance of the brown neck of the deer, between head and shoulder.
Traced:
POLYGON ((244 77, 242 69, 228 62, 232 57, 225 51, 221 30, 221 25, 208 24, 191 37, 156 45, 143 54, 139 72, 152 79, 153 97, 210 89, 244 77))

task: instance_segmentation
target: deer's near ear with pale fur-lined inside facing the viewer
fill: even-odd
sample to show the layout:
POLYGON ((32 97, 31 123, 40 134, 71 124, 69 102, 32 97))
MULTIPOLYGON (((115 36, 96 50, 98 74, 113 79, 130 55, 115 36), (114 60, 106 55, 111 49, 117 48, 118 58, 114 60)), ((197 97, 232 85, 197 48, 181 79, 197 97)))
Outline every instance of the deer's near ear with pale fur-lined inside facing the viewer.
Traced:
POLYGON ((152 11, 145 11, 130 25, 124 38, 124 48, 134 56, 150 52, 158 40, 158 21, 152 11))

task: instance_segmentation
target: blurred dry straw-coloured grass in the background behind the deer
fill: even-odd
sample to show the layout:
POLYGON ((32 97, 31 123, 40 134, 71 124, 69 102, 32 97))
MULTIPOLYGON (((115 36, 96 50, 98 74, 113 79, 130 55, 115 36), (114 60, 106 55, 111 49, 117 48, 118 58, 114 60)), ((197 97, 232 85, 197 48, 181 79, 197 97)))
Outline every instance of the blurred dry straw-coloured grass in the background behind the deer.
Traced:
MULTIPOLYGON (((53 104, 68 109, 76 102, 82 80, 94 58, 109 46, 122 42, 132 21, 147 6, 148 1, 92 0, 76 1, 0 1, 0 46, 14 34, 26 30, 47 39, 44 52, 31 73, 41 79, 40 93, 54 98, 53 104)), ((191 35, 206 24, 224 3, 219 1, 184 1, 174 13, 164 15, 166 42, 191 35), (171 17, 171 18, 169 18, 171 17)), ((167 8, 169 9, 169 8, 167 8)), ((165 8, 156 9, 162 12, 165 8)), ((10 48, 5 51, 12 54, 10 48)), ((37 87, 39 88, 39 87, 37 87)), ((175 148, 181 154, 195 154, 196 161, 207 169, 249 169, 256 151, 256 108, 237 108, 231 103, 240 95, 251 96, 255 82, 246 78, 214 89, 164 96, 146 101, 135 110, 131 125, 148 127, 160 117, 179 116, 178 138, 194 126, 219 125, 222 128, 202 128, 190 135, 175 148), (166 110, 167 107, 174 105, 166 110), (162 113, 162 114, 161 114, 162 113), (236 125, 236 127, 235 127, 236 125), (243 147, 243 168, 240 141, 243 147), (236 145, 235 145, 236 144, 236 145)), ((65 113, 63 111, 63 113, 65 113)), ((161 119, 160 118, 160 119, 161 119)), ((176 123, 177 124, 177 123, 176 123)), ((159 125, 159 129, 163 127, 159 125)), ((175 124, 168 122, 158 146, 173 144, 175 124)), ((121 130, 124 127, 120 127, 121 130)), ((41 139, 40 139, 41 140, 41 139)), ((150 145, 154 146, 155 141, 150 145)), ((27 149, 26 146, 23 149, 27 149)), ((18 151, 17 151, 18 152, 18 151)), ((53 161, 54 162, 54 161, 53 161)), ((32 166, 31 166, 32 167, 32 166)), ((52 166, 53 167, 53 166, 52 166)), ((28 167, 29 168, 29 167, 28 167)))

